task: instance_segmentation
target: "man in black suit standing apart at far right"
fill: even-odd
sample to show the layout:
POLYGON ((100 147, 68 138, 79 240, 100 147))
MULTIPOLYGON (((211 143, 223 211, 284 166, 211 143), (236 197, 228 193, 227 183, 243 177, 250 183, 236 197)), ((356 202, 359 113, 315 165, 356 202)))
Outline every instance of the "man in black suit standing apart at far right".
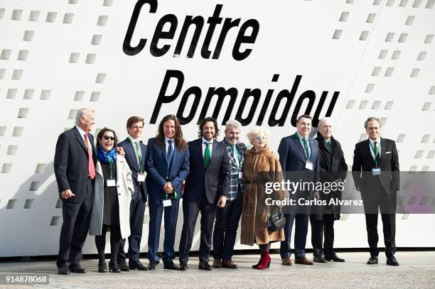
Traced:
POLYGON ((377 264, 377 212, 380 209, 387 265, 398 266, 396 252, 396 198, 399 190, 399 156, 396 143, 380 138, 381 124, 375 117, 364 123, 369 138, 355 145, 352 175, 361 192, 365 210, 365 225, 370 246, 367 264, 377 264))

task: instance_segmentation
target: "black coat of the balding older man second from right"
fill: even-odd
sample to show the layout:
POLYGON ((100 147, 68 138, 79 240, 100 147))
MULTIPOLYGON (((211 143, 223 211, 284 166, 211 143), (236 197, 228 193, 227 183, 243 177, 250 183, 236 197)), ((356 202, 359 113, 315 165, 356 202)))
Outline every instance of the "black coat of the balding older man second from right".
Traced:
MULTIPOLYGON (((321 182, 333 182, 337 179, 345 180, 348 165, 346 165, 340 142, 331 136, 333 147, 333 153, 331 153, 320 133, 317 133, 315 139, 318 141, 321 182)), ((341 192, 339 190, 331 191, 328 194, 320 192, 321 200, 326 200, 327 203, 329 203, 331 197, 338 197, 341 200, 341 192)), ((312 212, 311 219, 321 220, 331 219, 331 217, 340 219, 340 205, 315 206, 312 208, 312 212), (328 214, 328 217, 323 217, 323 214, 328 214)))

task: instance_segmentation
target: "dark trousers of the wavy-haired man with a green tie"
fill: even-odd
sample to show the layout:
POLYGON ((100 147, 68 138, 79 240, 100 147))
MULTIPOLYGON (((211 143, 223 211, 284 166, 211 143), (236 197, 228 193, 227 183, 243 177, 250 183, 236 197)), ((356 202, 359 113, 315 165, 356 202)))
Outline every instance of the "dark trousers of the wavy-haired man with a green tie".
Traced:
POLYGON ((213 222, 215 222, 216 203, 210 204, 204 197, 202 200, 186 202, 183 200, 183 231, 180 240, 180 262, 188 261, 192 248, 193 234, 198 214, 201 212, 201 233, 199 259, 208 262, 212 243, 213 222))

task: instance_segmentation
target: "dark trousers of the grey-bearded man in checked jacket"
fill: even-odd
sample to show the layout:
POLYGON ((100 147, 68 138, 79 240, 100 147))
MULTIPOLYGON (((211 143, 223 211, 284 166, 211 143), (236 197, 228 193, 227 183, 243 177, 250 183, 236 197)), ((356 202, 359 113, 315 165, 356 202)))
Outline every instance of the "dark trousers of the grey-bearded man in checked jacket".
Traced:
POLYGON ((225 207, 216 210, 215 229, 213 230, 213 258, 230 261, 242 215, 242 192, 237 190, 234 200, 227 201, 225 207))

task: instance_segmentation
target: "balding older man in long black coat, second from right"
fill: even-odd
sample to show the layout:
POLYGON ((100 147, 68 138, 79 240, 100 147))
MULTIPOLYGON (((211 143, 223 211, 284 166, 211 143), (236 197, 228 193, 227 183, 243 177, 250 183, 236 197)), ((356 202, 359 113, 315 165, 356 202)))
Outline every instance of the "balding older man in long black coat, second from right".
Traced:
MULTIPOLYGON (((340 143, 332 136, 333 126, 331 119, 325 117, 318 123, 319 158, 321 166, 321 182, 343 182, 346 178, 348 165, 346 165, 340 143)), ((326 190, 320 192, 320 200, 327 205, 314 206, 311 219, 311 244, 313 245, 313 261, 326 263, 326 261, 344 262, 333 251, 334 221, 340 219, 340 205, 329 205, 331 198, 341 200, 340 190, 326 190), (325 241, 322 246, 323 231, 325 241), (324 254, 324 256, 323 256, 324 254)))

